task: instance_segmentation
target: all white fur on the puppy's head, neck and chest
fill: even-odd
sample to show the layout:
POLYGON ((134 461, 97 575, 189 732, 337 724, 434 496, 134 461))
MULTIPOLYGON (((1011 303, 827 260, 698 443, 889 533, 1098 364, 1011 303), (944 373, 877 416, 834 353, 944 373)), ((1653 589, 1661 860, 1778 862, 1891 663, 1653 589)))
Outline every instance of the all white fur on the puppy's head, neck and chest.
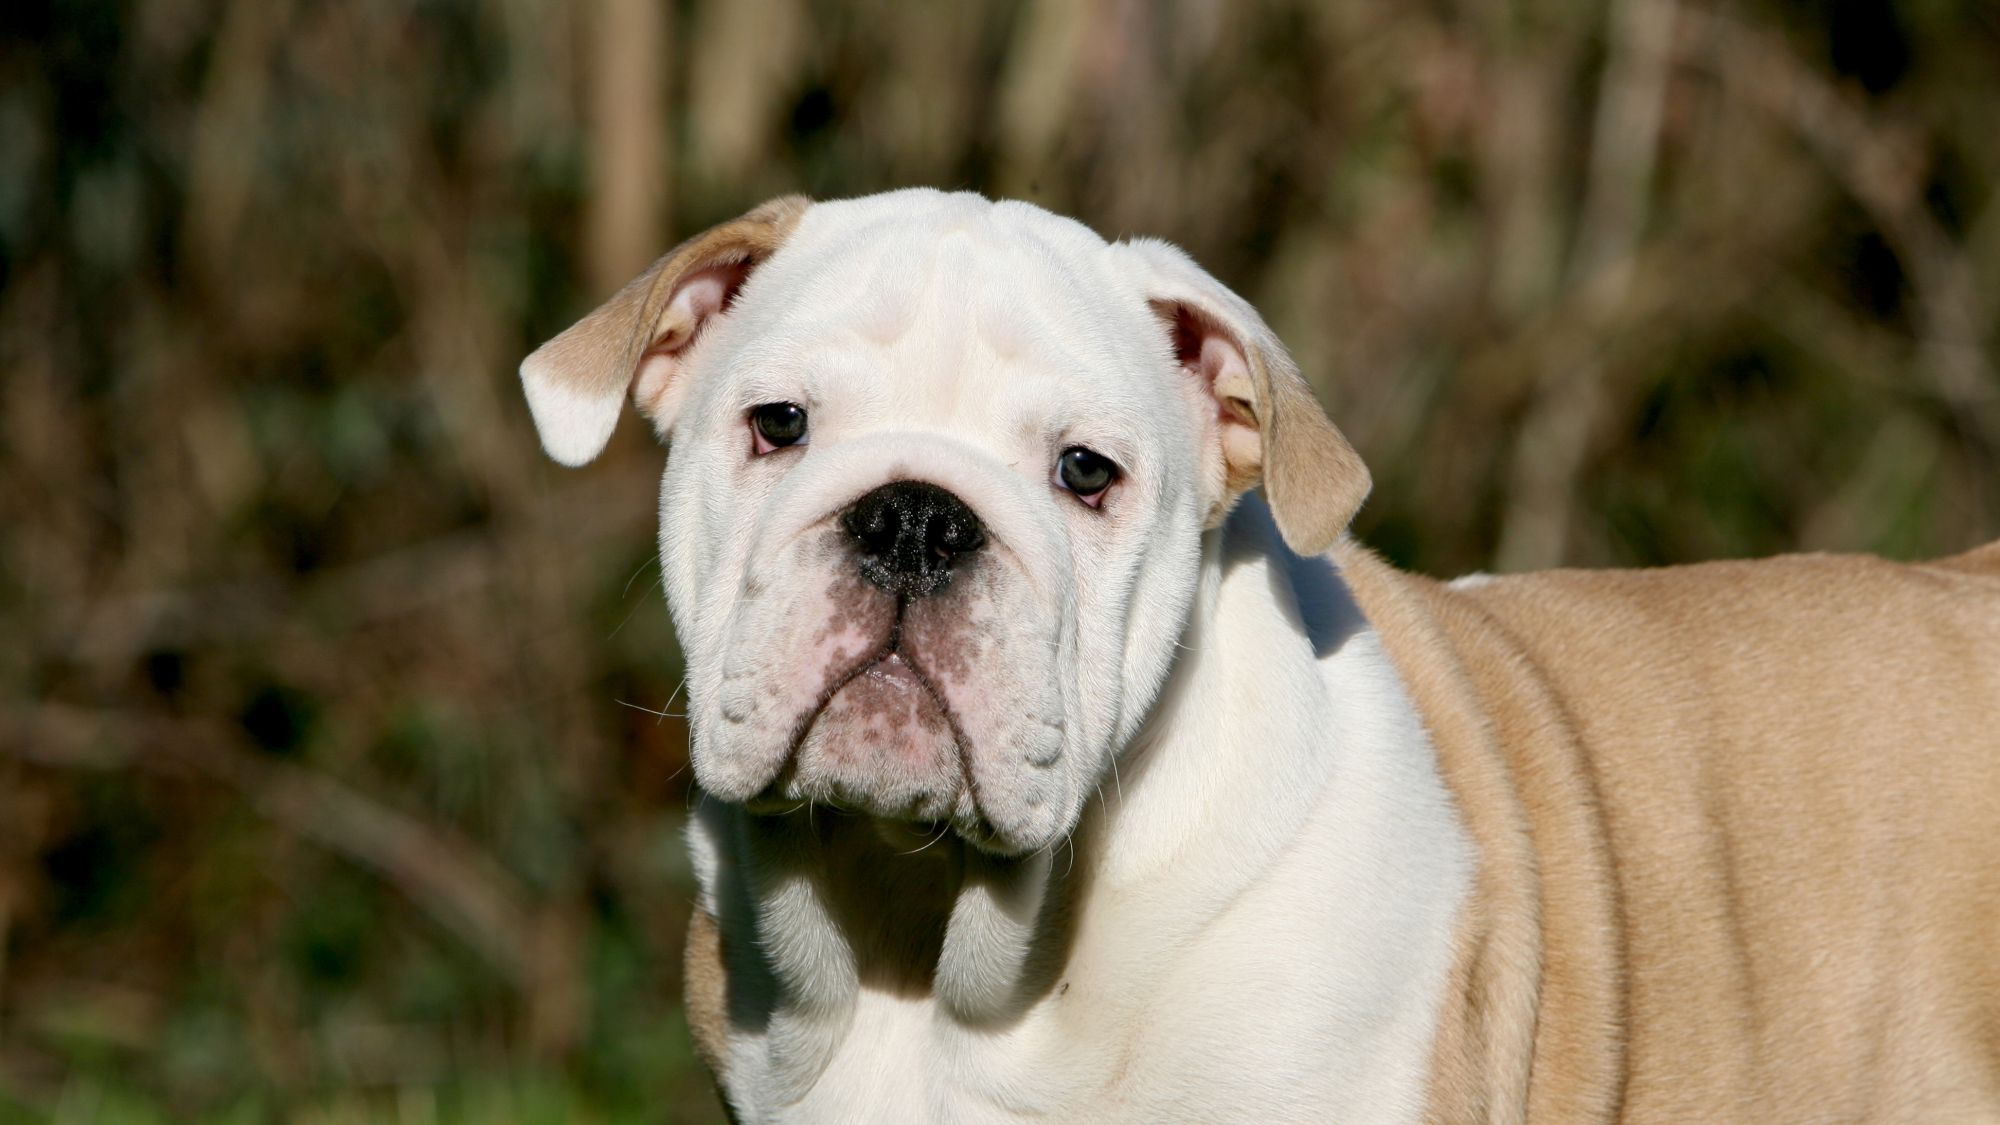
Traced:
MULTIPOLYGON (((696 779, 728 799, 690 839, 732 935, 742 1121, 1420 1117, 1470 843, 1332 565, 1254 498, 1202 530, 1214 406, 1152 306, 1184 298, 1268 338, 1166 244, 894 192, 812 206, 674 374, 660 550, 696 779), (752 458, 744 414, 772 400, 810 442, 752 458), (1052 486, 1070 444, 1124 468, 1102 510, 1052 486), (984 817, 978 847, 736 805, 806 753, 786 731, 878 629, 824 625, 830 544, 896 478, 990 536, 964 581, 978 661, 940 677, 978 797, 926 813, 984 817)), ((816 769, 920 803, 942 767, 882 753, 816 769)))

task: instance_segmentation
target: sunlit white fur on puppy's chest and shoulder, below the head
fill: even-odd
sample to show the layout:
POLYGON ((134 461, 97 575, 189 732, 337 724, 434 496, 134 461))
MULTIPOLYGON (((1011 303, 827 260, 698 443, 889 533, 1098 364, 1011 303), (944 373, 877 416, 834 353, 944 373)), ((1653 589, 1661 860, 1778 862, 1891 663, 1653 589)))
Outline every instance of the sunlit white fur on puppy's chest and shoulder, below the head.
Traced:
POLYGON ((1470 841, 1380 643, 1328 573, 1314 655, 1264 520, 1246 502, 1210 536, 1190 651, 1076 855, 1050 857, 1092 885, 1068 987, 1000 1029, 862 991, 798 1101, 776 1095, 788 1053, 740 1037, 742 1119, 1420 1119, 1470 841))

